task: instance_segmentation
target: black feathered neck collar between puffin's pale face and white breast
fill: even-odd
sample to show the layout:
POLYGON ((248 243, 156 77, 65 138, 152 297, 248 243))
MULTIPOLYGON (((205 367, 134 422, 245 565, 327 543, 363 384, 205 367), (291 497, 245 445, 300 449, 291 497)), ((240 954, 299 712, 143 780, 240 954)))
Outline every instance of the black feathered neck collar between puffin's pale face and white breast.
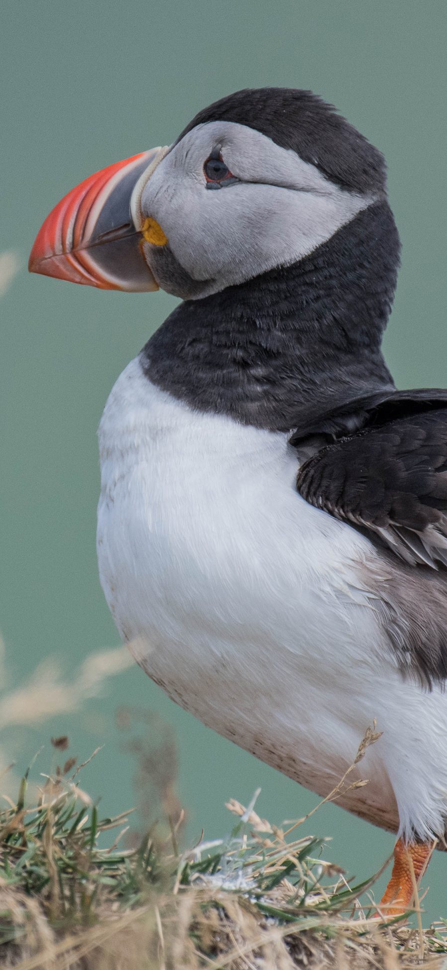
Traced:
POLYGON ((300 262, 176 307, 141 351, 144 372, 243 424, 314 421, 394 386, 380 343, 398 265, 393 214, 377 203, 300 262))

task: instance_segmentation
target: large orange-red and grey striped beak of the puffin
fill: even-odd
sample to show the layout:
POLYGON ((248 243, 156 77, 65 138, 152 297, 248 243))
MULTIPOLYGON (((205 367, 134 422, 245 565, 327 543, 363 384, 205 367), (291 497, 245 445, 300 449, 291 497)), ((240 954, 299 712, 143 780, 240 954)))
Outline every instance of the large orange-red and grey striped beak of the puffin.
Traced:
POLYGON ((31 250, 30 273, 103 290, 158 290, 142 242, 166 240, 155 220, 146 219, 149 233, 141 225, 139 200, 166 151, 142 151, 76 185, 46 216, 31 250))

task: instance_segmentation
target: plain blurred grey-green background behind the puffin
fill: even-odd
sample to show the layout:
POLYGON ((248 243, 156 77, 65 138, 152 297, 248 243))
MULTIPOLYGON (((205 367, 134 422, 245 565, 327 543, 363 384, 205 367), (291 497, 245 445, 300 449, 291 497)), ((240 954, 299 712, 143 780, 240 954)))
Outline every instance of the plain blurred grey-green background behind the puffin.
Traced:
MULTIPOLYGON (((16 253, 19 269, 0 301, 0 627, 10 689, 48 655, 70 677, 89 654, 118 645, 97 574, 96 430, 116 376, 176 303, 27 275, 46 213, 97 169, 169 144, 232 90, 312 88, 388 160, 403 243, 386 338, 397 382, 445 386, 446 27, 445 0, 3 0, 0 253, 16 253)), ((208 837, 223 834, 224 801, 247 803, 257 786, 258 811, 277 823, 315 804, 177 708, 136 666, 77 712, 10 728, 2 743, 18 768, 48 741, 42 771, 50 734, 67 731, 81 758, 104 744, 83 785, 102 796, 104 812, 118 812, 134 801, 130 732, 116 723, 123 705, 155 712, 175 732, 190 840, 202 826, 208 837)), ((150 721, 143 733, 151 746, 161 731, 150 721)), ((358 877, 392 849, 390 835, 334 806, 310 825, 333 836, 327 855, 358 877)), ((433 919, 447 915, 446 866, 437 854, 425 881, 433 919)))

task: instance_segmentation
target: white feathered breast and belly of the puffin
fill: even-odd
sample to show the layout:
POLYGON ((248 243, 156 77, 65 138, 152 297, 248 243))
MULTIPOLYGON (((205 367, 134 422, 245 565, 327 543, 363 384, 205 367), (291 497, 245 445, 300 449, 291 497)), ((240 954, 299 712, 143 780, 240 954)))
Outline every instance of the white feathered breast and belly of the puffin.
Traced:
POLYGON ((405 826, 412 795, 393 778, 391 733, 404 730, 400 705, 422 720, 424 695, 402 681, 361 589, 371 544, 300 498, 287 436, 194 412, 135 359, 105 406, 100 451, 101 581, 138 663, 206 725, 323 795, 376 718, 390 744, 370 749, 371 783, 344 802, 389 827, 398 802, 405 826))

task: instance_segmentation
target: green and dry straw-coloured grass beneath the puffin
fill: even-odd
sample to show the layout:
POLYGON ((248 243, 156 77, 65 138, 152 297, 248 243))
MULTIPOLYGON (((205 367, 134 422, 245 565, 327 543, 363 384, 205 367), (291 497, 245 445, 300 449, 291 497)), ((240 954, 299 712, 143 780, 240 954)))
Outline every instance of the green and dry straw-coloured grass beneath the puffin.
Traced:
MULTIPOLYGON (((53 745, 61 753, 66 739, 53 745)), ((347 880, 325 861, 325 838, 297 837, 307 820, 284 830, 259 818, 255 796, 248 808, 232 799, 235 822, 225 839, 202 839, 180 853, 180 818, 167 839, 152 826, 126 848, 130 813, 101 818, 79 785, 82 767, 66 760, 34 800, 28 770, 15 801, 7 798, 0 811, 0 966, 447 965, 447 922, 422 932, 402 920, 386 925, 373 902, 376 877, 347 880)))

